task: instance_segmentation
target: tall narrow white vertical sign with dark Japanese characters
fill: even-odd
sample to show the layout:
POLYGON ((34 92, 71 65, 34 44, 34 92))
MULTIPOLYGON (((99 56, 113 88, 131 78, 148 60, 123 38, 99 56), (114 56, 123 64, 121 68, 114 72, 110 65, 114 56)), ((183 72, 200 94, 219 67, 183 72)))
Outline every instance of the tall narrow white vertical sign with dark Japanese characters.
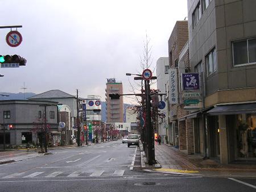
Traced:
POLYGON ((178 103, 178 90, 177 90, 177 69, 169 69, 169 95, 170 95, 170 103, 177 104, 178 103))

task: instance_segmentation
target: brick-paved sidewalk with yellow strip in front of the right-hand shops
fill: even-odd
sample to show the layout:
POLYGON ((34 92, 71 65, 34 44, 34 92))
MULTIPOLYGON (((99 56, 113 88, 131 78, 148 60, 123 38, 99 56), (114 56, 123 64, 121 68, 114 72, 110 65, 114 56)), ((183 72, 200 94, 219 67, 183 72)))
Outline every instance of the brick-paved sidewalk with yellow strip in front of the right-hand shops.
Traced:
POLYGON ((185 155, 167 144, 158 145, 155 143, 155 159, 161 168, 148 167, 147 170, 170 174, 256 178, 255 164, 222 165, 214 160, 203 160, 203 157, 199 155, 185 155))

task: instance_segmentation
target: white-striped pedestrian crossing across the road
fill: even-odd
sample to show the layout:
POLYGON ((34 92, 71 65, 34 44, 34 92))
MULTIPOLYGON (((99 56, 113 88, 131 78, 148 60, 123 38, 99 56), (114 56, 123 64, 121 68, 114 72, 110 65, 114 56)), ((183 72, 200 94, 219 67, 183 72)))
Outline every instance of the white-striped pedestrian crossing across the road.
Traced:
POLYGON ((121 177, 125 174, 124 169, 114 170, 114 172, 108 172, 106 170, 95 170, 94 172, 34 172, 34 173, 12 173, 0 179, 11 179, 11 178, 53 178, 53 177, 102 177, 102 176, 113 176, 113 177, 121 177))

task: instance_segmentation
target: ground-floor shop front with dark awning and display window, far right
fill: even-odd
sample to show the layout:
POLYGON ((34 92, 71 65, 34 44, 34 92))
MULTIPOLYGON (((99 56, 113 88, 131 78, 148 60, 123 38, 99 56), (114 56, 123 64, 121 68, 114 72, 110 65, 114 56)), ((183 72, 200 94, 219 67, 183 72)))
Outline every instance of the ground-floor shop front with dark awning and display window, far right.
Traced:
POLYGON ((221 161, 255 164, 256 103, 217 106, 208 113, 218 115, 221 161))

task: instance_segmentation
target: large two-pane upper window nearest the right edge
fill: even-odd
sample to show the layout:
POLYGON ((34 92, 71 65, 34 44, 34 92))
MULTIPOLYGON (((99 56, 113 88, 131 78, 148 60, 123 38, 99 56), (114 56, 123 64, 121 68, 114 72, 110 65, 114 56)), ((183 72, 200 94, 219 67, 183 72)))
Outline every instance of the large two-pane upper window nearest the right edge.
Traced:
POLYGON ((255 64, 256 62, 256 39, 246 39, 233 42, 234 66, 255 64))

